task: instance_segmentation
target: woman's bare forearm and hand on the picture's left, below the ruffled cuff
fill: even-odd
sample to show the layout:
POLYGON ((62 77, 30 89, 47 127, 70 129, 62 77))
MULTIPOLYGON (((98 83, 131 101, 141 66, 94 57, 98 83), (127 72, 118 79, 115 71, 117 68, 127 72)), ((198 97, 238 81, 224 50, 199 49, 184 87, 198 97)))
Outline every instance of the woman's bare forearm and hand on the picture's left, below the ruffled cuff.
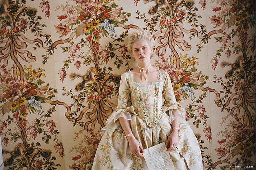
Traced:
MULTIPOLYGON (((131 129, 129 120, 125 119, 124 117, 119 117, 119 122, 126 135, 132 134, 132 129, 131 129)), ((126 138, 129 142, 129 147, 132 154, 134 154, 135 156, 144 157, 143 152, 145 151, 143 150, 142 144, 138 142, 138 140, 134 137, 134 135, 132 134, 132 135, 126 136, 126 138)))

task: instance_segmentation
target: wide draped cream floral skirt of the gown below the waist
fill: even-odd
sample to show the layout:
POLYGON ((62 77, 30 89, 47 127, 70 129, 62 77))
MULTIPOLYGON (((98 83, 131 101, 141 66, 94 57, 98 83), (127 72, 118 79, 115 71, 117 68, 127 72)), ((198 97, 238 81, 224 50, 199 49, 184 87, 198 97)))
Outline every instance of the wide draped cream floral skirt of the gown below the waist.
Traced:
MULTIPOLYGON (((130 118, 132 133, 148 148, 166 142, 172 132, 170 117, 162 113, 158 125, 148 127, 136 114, 130 118)), ((188 123, 180 117, 179 142, 175 150, 170 151, 176 170, 202 170, 202 156, 198 140, 188 123)), ((147 170, 144 158, 134 156, 130 152, 128 140, 118 120, 112 121, 104 128, 92 170, 147 170)))

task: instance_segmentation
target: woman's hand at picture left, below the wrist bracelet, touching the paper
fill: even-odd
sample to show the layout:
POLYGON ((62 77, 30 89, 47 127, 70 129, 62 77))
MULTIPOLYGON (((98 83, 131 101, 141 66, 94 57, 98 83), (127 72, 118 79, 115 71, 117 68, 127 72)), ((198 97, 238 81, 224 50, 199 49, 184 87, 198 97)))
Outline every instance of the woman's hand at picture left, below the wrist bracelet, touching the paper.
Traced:
POLYGON ((133 135, 127 136, 127 140, 129 142, 129 147, 132 154, 135 156, 144 157, 143 152, 145 151, 142 148, 142 144, 133 135))

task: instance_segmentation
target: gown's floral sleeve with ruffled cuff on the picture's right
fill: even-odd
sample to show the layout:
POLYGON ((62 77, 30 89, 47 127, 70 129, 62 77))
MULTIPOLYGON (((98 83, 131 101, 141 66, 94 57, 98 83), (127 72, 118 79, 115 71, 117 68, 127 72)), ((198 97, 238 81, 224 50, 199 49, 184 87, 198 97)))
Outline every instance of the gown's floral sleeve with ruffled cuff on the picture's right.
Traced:
POLYGON ((176 119, 177 116, 185 118, 185 110, 180 107, 176 101, 174 91, 172 88, 172 83, 170 76, 166 71, 163 72, 164 87, 163 87, 163 98, 164 105, 162 106, 162 111, 170 116, 170 121, 176 119), (173 110, 176 109, 178 114, 174 114, 173 110))

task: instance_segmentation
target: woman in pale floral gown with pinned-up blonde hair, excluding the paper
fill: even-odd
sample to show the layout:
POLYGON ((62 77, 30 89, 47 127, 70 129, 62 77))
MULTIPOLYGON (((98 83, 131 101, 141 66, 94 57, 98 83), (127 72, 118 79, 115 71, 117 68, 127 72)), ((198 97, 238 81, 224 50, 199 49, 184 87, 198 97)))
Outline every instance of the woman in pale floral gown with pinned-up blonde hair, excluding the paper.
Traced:
POLYGON ((198 141, 176 102, 170 77, 150 63, 153 45, 145 31, 129 38, 128 50, 138 67, 121 76, 118 107, 101 130, 93 170, 148 169, 144 148, 162 142, 177 170, 202 169, 198 141))

